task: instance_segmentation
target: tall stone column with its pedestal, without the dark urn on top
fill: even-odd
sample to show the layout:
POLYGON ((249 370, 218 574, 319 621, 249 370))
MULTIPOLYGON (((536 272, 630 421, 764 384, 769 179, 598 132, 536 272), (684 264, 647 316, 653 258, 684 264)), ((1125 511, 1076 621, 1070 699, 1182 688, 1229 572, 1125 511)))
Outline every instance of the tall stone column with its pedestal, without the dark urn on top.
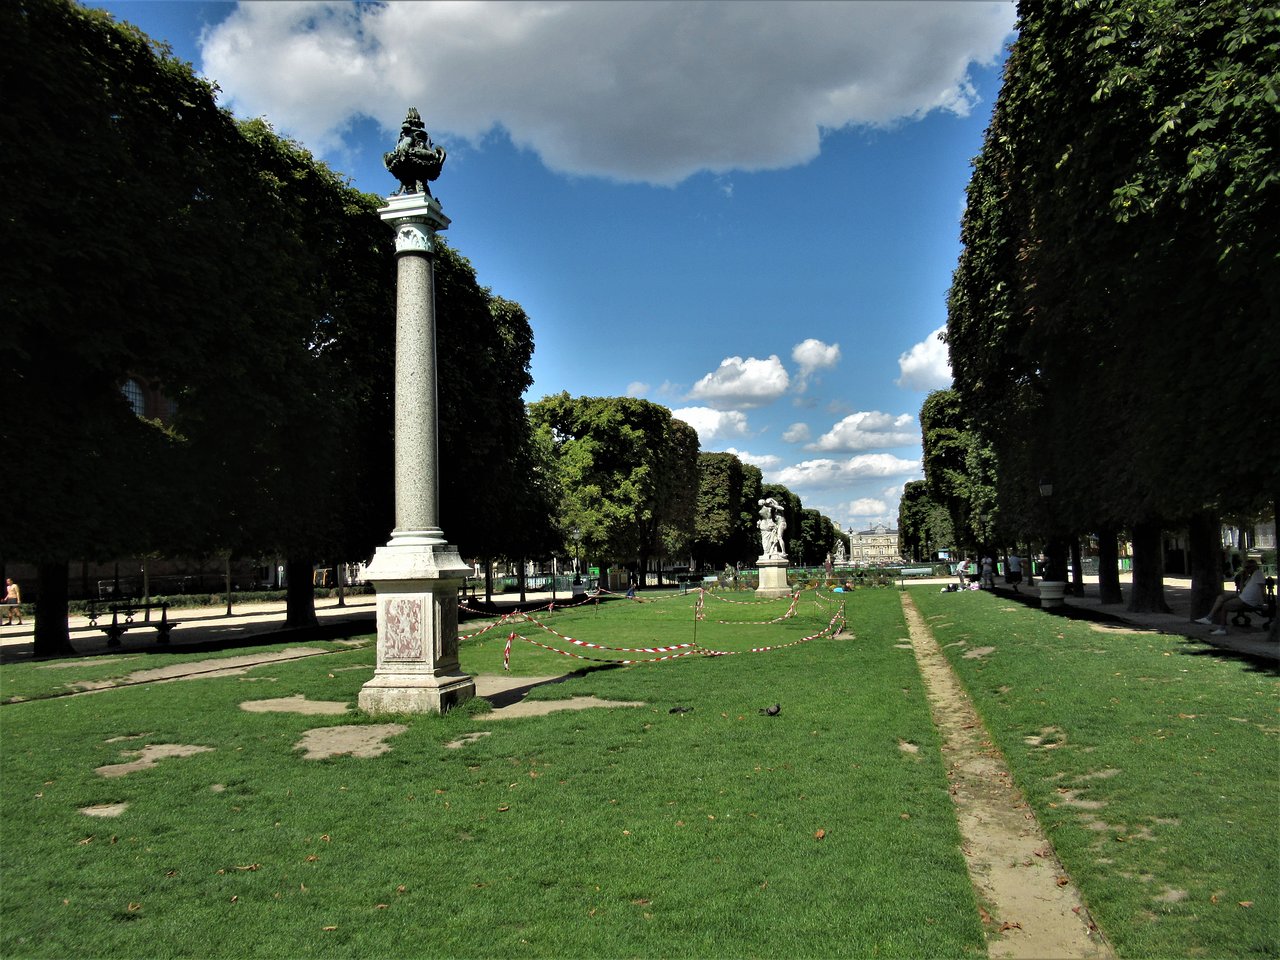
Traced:
POLYGON ((458 588, 471 568, 439 521, 433 257, 449 219, 424 193, 379 212, 396 232, 396 529, 365 572, 378 591, 378 667, 360 709, 443 713, 475 696, 458 664, 458 588))

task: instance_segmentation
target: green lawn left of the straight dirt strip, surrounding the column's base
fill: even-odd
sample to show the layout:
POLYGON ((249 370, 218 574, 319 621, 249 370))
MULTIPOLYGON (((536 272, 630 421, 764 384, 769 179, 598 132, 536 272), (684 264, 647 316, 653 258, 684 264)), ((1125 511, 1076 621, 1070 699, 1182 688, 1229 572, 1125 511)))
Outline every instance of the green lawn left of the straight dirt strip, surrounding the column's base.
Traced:
MULTIPOLYGON (((513 644, 516 673, 582 668, 530 698, 646 707, 489 722, 472 701, 398 718, 407 730, 374 759, 294 749, 307 730, 375 722, 360 714, 239 709, 294 694, 353 703, 369 648, 0 707, 0 954, 982 955, 924 691, 896 645, 896 591, 851 596, 855 637, 808 643, 796 641, 832 616, 813 595, 776 625, 716 621, 768 620, 778 604, 712 602, 695 623, 692 602, 547 622, 613 646, 696 630, 735 655, 613 666, 513 644), (774 701, 778 717, 759 714, 774 701), (445 746, 476 730, 492 735, 445 746), (214 749, 95 773, 131 744, 161 742, 214 749), (78 812, 105 803, 129 806, 78 812)), ((463 667, 500 669, 506 632, 463 643, 463 667)))

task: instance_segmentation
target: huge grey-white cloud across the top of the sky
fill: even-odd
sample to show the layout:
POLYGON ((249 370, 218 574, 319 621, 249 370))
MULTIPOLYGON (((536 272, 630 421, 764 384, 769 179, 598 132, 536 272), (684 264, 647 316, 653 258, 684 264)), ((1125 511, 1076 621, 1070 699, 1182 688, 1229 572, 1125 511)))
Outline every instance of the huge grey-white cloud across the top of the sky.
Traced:
POLYGON ((417 105, 444 146, 497 129, 548 168, 675 184, 776 170, 826 131, 975 106, 1014 4, 241 3, 201 70, 242 116, 316 152, 352 123, 394 132, 417 105))

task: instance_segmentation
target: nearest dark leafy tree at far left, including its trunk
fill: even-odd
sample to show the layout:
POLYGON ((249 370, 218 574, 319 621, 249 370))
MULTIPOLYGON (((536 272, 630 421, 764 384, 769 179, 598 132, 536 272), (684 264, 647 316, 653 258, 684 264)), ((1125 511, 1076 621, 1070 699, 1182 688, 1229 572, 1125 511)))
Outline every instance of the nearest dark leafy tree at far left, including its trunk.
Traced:
POLYGON ((136 416, 120 384, 133 375, 172 396, 223 352, 210 344, 244 333, 221 293, 244 268, 251 178, 209 83, 132 27, 18 0, 0 28, 0 137, 22 145, 0 161, 5 401, 23 411, 6 430, 23 456, 4 460, 0 485, 22 504, 6 553, 42 572, 36 653, 47 655, 69 649, 72 556, 200 538, 183 438, 136 416))

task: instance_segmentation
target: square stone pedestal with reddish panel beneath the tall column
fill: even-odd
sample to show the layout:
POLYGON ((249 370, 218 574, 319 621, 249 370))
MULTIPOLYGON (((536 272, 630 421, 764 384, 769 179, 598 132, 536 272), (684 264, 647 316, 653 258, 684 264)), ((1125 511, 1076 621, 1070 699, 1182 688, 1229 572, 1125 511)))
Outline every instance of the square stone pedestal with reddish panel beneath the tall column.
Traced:
POLYGON ((451 544, 379 547, 365 577, 378 591, 378 667, 365 713, 444 713, 475 696, 458 664, 458 588, 471 568, 451 544))

